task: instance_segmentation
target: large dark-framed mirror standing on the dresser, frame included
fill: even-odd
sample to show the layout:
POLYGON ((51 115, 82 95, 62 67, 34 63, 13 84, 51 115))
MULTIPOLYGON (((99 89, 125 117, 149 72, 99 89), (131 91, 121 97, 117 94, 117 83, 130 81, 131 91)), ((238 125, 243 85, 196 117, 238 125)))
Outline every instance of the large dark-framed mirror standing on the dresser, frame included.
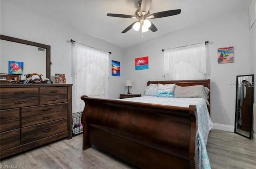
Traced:
MULTIPOLYGON (((28 40, 0 35, 0 73, 9 73, 9 61, 23 62, 23 75, 38 73, 42 79, 50 79, 50 48, 51 46, 39 44, 28 40)), ((15 71, 15 70, 14 70, 15 71)))

